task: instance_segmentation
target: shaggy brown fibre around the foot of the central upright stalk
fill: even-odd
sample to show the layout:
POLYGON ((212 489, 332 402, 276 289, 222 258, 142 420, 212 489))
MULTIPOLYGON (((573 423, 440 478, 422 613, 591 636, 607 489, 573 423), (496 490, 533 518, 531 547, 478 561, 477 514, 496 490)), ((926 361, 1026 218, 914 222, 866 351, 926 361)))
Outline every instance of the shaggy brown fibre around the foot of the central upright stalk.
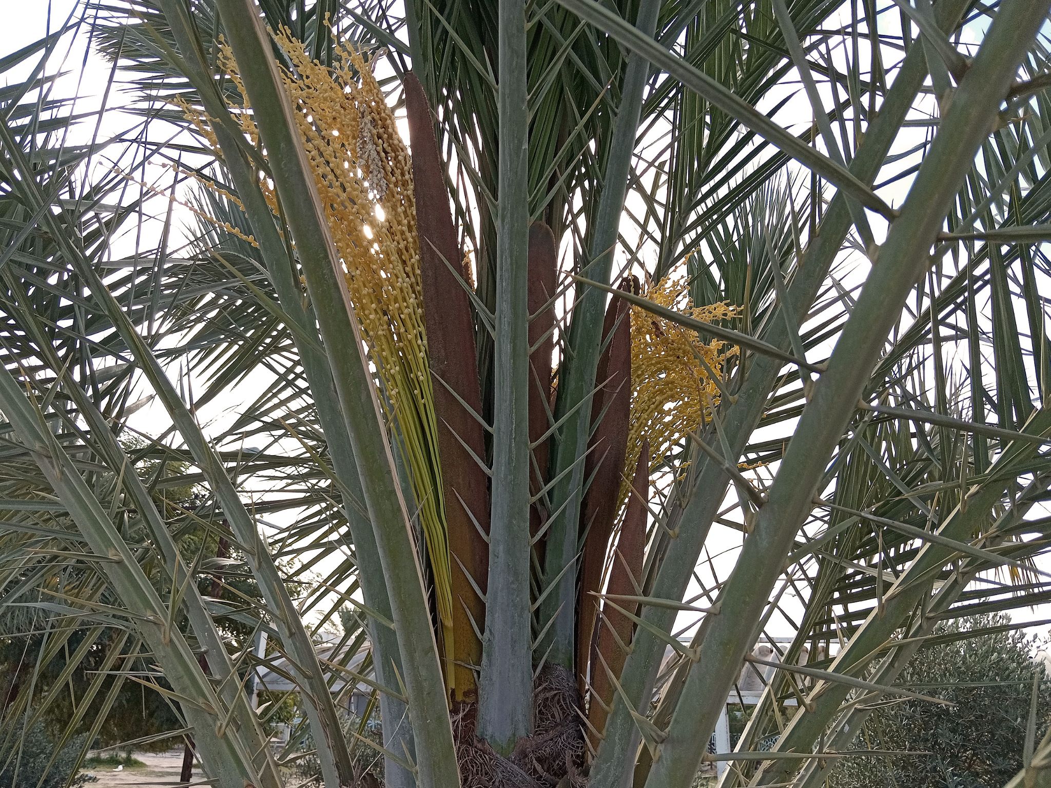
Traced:
POLYGON ((474 703, 453 708, 453 734, 463 788, 548 788, 588 785, 584 737, 573 672, 545 665, 533 683, 534 733, 503 758, 475 735, 474 703))

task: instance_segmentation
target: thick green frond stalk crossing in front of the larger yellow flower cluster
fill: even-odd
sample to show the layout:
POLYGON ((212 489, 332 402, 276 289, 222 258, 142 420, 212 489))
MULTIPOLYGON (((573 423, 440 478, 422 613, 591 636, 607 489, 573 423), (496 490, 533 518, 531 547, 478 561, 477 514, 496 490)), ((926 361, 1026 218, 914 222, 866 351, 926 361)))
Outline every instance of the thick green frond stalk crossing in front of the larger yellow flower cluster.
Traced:
POLYGON ((357 459, 363 498, 376 535, 401 651, 401 678, 411 699, 408 705, 416 744, 416 779, 425 786, 456 786, 459 772, 423 572, 347 285, 257 12, 248 0, 225 0, 220 11, 255 108, 263 142, 270 152, 274 183, 296 242, 357 459))

